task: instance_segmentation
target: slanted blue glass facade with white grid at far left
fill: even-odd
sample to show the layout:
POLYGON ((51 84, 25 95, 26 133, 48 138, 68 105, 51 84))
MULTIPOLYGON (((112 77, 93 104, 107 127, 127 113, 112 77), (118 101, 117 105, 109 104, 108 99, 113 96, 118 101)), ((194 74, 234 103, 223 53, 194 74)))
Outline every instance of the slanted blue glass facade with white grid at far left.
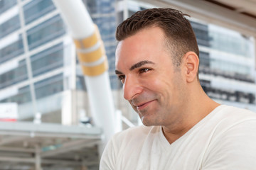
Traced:
POLYGON ((0 102, 18 103, 18 118, 33 119, 41 112, 36 106, 39 98, 63 90, 63 71, 50 71, 64 67, 61 39, 67 31, 51 0, 1 0, 0 4, 0 91, 4 94, 0 102))

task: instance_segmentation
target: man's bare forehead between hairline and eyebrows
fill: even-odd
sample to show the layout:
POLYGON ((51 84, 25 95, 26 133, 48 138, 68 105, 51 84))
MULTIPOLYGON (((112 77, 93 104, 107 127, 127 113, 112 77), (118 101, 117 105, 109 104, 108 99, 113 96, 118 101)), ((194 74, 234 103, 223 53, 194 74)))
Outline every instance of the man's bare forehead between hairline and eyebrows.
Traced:
POLYGON ((157 61, 166 52, 164 32, 153 27, 140 30, 138 33, 119 42, 116 50, 116 68, 129 67, 142 60, 157 61))

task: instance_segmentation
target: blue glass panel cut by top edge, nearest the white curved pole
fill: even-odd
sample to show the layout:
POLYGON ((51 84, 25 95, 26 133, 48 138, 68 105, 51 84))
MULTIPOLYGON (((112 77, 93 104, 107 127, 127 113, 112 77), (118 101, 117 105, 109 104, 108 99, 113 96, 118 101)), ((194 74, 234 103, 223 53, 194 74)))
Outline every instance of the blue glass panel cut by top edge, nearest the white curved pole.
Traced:
POLYGON ((35 0, 24 6, 24 17, 26 24, 53 11, 55 6, 51 0, 35 0))

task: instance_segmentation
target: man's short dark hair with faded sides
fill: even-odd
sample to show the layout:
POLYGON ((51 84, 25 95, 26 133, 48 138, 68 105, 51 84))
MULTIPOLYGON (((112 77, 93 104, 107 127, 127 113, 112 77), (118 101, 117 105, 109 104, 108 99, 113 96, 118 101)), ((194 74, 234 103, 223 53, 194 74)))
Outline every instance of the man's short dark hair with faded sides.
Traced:
POLYGON ((179 66, 186 52, 193 51, 199 57, 196 35, 185 16, 188 15, 172 8, 149 8, 137 11, 119 24, 116 38, 121 41, 139 30, 157 26, 164 30, 167 47, 171 55, 175 56, 172 59, 174 65, 179 66))

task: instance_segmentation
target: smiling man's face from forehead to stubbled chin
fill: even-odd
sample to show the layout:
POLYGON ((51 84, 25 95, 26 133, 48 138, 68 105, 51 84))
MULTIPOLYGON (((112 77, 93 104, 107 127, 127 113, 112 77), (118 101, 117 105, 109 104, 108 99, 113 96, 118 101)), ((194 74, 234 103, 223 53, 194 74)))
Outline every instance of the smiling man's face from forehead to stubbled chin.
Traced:
POLYGON ((174 67, 164 41, 160 28, 146 28, 119 42, 116 51, 124 98, 148 126, 177 123, 186 102, 183 69, 174 67))

